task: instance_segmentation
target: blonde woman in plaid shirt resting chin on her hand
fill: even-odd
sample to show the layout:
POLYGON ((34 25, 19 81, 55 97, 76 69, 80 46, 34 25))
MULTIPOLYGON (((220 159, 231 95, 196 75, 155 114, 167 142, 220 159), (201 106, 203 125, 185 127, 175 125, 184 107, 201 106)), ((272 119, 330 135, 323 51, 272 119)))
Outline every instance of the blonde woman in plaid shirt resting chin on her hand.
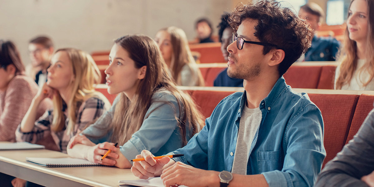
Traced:
POLYGON ((87 53, 59 49, 47 69, 47 82, 39 89, 16 131, 17 141, 36 142, 52 135, 59 150, 66 153, 70 138, 100 117, 110 103, 94 89, 101 76, 87 53), (53 98, 53 109, 36 119, 36 109, 47 97, 53 98))

